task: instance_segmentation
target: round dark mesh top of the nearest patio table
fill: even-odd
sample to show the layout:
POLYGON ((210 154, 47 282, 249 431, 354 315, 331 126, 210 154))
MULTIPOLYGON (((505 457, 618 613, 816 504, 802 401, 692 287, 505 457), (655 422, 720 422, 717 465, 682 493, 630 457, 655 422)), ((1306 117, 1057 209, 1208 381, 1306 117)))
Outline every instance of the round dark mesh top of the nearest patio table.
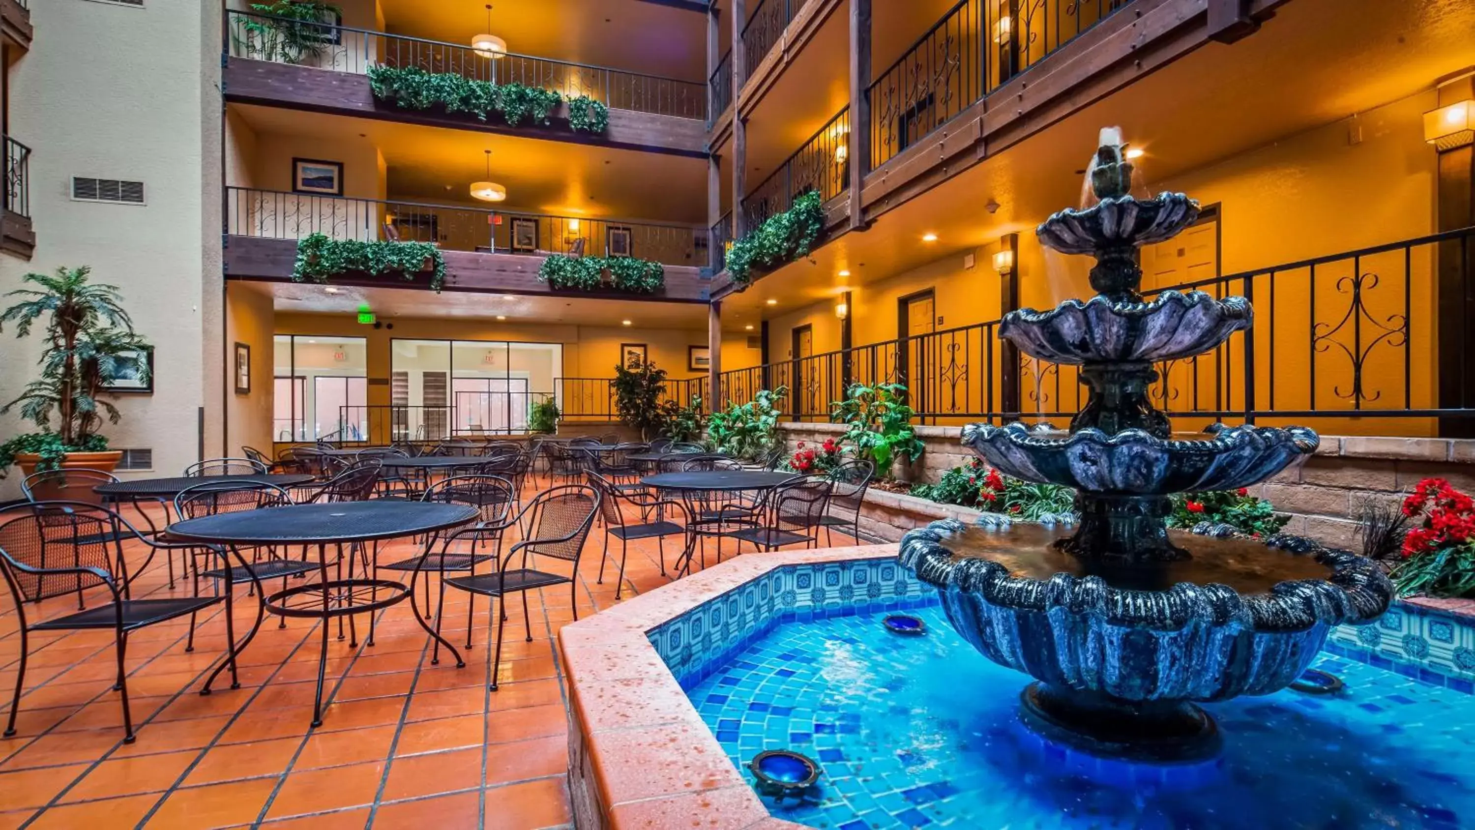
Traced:
POLYGON ((202 516, 168 526, 173 538, 223 544, 373 541, 473 522, 475 507, 422 501, 336 501, 202 516))

